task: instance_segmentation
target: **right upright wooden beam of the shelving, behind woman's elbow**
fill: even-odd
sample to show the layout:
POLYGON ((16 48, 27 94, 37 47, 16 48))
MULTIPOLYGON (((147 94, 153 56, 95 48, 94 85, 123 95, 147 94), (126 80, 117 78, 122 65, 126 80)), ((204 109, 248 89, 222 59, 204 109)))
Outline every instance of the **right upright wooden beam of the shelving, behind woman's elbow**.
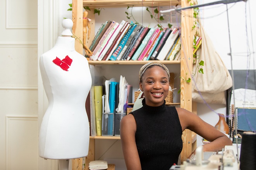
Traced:
MULTIPOLYGON (((182 0, 182 7, 189 6, 187 0, 182 0)), ((180 61, 180 76, 184 80, 191 78, 191 71, 193 65, 193 36, 192 31, 193 26, 193 9, 183 10, 181 16, 181 36, 182 36, 182 46, 181 46, 181 61, 180 61)), ((180 107, 192 111, 192 83, 184 82, 181 79, 181 92, 180 92, 180 107)), ((192 138, 191 131, 186 129, 183 131, 183 150, 181 153, 181 161, 185 161, 188 156, 192 153, 192 138)))

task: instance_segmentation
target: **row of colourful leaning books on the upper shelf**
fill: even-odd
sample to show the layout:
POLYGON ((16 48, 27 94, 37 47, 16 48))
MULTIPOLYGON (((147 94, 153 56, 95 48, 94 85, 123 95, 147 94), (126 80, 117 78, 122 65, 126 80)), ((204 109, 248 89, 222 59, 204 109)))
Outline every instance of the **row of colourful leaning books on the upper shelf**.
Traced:
POLYGON ((106 21, 94 37, 90 60, 177 60, 181 38, 178 28, 144 27, 122 20, 106 21))

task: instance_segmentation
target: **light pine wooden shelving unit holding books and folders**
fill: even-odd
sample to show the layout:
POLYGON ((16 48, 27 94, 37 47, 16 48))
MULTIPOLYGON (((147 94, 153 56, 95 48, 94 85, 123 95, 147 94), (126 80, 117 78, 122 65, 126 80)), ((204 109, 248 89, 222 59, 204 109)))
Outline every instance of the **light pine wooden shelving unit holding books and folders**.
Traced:
MULTIPOLYGON (((188 0, 143 0, 143 5, 147 7, 158 7, 158 6, 171 6, 171 5, 181 5, 182 7, 189 6, 188 0)), ((88 18, 92 19, 90 21, 91 34, 90 40, 86 40, 86 46, 90 46, 93 37, 95 35, 95 16, 93 14, 93 8, 107 8, 107 7, 127 7, 127 6, 141 7, 141 0, 73 0, 73 34, 78 37, 83 42, 83 7, 88 6, 91 9, 91 12, 88 14, 88 18)), ((182 11, 181 16, 181 35, 182 35, 182 53, 181 61, 160 61, 165 65, 180 65, 180 76, 188 77, 190 71, 192 70, 193 65, 193 36, 194 32, 192 31, 192 26, 194 24, 193 9, 182 11)), ((76 41, 75 45, 76 51, 83 54, 83 45, 80 41, 76 41)), ((144 65, 150 61, 88 61, 90 65, 144 65)), ((181 81, 182 82, 182 81, 181 81)), ((181 83, 181 93, 180 93, 180 107, 193 111, 196 113, 196 107, 193 107, 192 110, 192 90, 191 83, 181 83)), ((193 104, 196 106, 196 104, 193 104)), ((120 139, 119 136, 95 136, 90 137, 90 147, 88 156, 86 156, 86 164, 94 160, 94 148, 95 148, 95 139, 120 139)), ((181 160, 186 160, 187 157, 194 151, 196 142, 196 135, 189 130, 183 131, 183 150, 181 153, 181 160)), ((120 148, 121 149, 121 148, 120 148)), ((80 159, 73 160, 73 167, 76 167, 76 170, 82 170, 82 161, 80 159)))

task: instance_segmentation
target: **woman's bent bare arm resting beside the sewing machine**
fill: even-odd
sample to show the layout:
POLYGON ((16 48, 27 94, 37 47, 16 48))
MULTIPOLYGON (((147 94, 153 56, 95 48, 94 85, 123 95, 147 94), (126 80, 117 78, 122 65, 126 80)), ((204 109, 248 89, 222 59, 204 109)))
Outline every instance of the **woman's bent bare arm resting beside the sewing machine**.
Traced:
POLYGON ((232 141, 222 132, 203 121, 196 114, 182 108, 176 108, 182 125, 182 130, 189 129, 202 138, 210 141, 203 145, 204 151, 221 151, 225 145, 232 145, 232 141))

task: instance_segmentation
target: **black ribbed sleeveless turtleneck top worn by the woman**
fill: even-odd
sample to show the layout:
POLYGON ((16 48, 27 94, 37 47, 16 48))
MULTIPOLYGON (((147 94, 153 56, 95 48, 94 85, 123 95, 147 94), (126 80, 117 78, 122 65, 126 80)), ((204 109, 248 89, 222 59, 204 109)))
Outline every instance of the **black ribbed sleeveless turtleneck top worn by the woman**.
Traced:
POLYGON ((182 127, 174 106, 152 107, 142 100, 133 114, 137 130, 135 140, 142 170, 169 170, 178 163, 182 151, 182 127))

